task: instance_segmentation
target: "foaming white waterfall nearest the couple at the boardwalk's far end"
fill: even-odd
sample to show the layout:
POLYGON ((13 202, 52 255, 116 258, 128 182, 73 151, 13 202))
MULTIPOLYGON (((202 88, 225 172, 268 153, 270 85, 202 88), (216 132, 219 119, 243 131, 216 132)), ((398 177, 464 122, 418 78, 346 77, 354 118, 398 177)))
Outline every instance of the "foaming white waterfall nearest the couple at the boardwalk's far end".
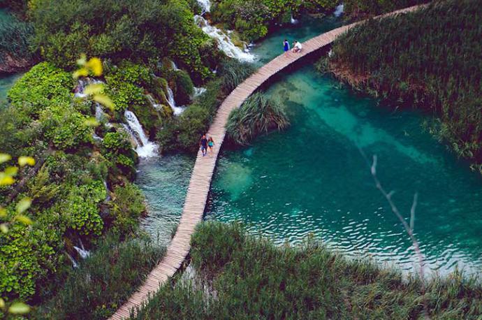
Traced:
POLYGON ((217 41, 219 50, 224 52, 228 57, 245 62, 253 62, 256 58, 254 54, 244 52, 244 50, 236 47, 227 34, 225 34, 221 29, 217 29, 217 27, 210 25, 209 22, 207 22, 207 20, 200 15, 194 16, 194 21, 205 34, 217 41))

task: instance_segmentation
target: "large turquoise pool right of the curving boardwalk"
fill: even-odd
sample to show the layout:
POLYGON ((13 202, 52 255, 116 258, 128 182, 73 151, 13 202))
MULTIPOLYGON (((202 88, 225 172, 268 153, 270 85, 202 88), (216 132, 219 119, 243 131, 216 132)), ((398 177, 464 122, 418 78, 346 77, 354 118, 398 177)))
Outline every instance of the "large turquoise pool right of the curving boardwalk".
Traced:
POLYGON ((415 231, 430 270, 456 263, 481 269, 482 181, 467 163, 421 130, 423 117, 337 89, 337 82, 307 66, 268 90, 292 126, 226 151, 214 177, 210 219, 243 221, 277 243, 312 233, 348 256, 370 256, 411 270, 411 242, 374 186, 370 168, 394 190, 409 217, 418 192, 415 231))

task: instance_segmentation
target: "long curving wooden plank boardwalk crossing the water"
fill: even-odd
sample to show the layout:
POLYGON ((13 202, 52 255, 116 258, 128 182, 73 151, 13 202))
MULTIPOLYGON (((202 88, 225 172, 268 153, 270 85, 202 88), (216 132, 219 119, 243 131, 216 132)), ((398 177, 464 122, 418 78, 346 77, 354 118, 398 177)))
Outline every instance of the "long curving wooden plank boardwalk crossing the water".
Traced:
MULTIPOLYGON (((418 6, 397 10, 380 17, 405 13, 413 11, 416 8, 418 8, 418 6)), ((290 66, 293 62, 329 45, 335 41, 337 36, 343 34, 346 30, 358 23, 333 29, 332 31, 328 31, 325 34, 321 34, 320 36, 316 36, 309 41, 302 43, 303 49, 300 53, 290 52, 288 55, 282 54, 279 57, 272 59, 272 61, 259 68, 256 73, 247 78, 247 80, 244 80, 241 85, 236 87, 236 89, 229 94, 219 107, 214 122, 212 122, 207 133, 207 135, 211 136, 216 142, 213 154, 203 157, 203 155, 198 152, 191 175, 191 182, 189 182, 182 216, 174 238, 168 246, 166 256, 164 256, 161 262, 150 272, 145 283, 140 286, 138 291, 133 293, 129 300, 122 305, 122 307, 120 307, 110 319, 121 320, 129 318, 130 310, 134 307, 141 307, 146 303, 149 295, 152 296, 159 290, 162 284, 166 283, 170 277, 173 277, 177 269, 179 269, 184 262, 184 259, 186 259, 187 254, 189 254, 189 249, 191 249, 191 234, 194 232, 196 224, 203 219, 207 194, 210 191, 212 174, 214 173, 214 167, 216 166, 221 144, 223 143, 224 136, 226 136, 225 126, 231 111, 235 108, 239 108, 242 103, 256 91, 256 89, 263 85, 263 83, 273 75, 276 75, 279 71, 290 66)))

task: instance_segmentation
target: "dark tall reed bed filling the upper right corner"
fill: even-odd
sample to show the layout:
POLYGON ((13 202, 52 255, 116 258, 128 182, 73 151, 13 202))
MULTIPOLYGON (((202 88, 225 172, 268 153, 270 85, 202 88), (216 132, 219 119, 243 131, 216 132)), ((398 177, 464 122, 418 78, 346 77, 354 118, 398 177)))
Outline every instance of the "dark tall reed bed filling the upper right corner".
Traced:
POLYGON ((482 172, 482 7, 442 1, 337 39, 320 66, 385 101, 431 112, 430 132, 482 172))

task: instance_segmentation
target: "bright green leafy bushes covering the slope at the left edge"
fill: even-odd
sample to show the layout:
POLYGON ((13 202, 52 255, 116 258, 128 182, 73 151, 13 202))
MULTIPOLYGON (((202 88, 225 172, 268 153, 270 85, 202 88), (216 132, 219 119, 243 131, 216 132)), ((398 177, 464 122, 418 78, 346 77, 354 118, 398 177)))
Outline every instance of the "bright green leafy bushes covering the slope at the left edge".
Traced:
POLYGON ((78 259, 73 245, 82 239, 94 247, 110 228, 125 238, 145 211, 143 195, 129 182, 136 162, 129 140, 117 126, 101 133, 102 143, 94 140, 94 106, 74 99, 73 87, 70 73, 43 62, 10 89, 10 106, 0 114, 1 151, 37 161, 0 188, 8 217, 29 197, 34 221, 0 233, 0 297, 6 300, 42 300, 52 275, 61 279, 71 265, 65 252, 78 259))

